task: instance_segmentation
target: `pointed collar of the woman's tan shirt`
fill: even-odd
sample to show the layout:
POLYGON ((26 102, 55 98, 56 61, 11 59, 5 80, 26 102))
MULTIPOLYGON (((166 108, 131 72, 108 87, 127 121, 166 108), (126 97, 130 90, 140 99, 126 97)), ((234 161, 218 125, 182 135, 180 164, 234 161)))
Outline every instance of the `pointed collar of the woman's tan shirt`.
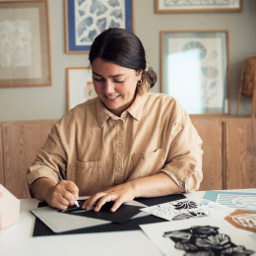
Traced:
MULTIPOLYGON (((142 95, 142 96, 137 95, 133 103, 131 104, 131 106, 121 114, 120 118, 125 117, 128 112, 133 118, 139 121, 143 113, 145 100, 146 100, 146 95, 142 95)), ((108 118, 119 119, 119 117, 117 117, 116 115, 114 115, 113 113, 111 113, 105 108, 103 102, 99 97, 97 97, 97 100, 96 100, 96 116, 97 116, 98 125, 100 127, 104 125, 105 121, 108 118)))

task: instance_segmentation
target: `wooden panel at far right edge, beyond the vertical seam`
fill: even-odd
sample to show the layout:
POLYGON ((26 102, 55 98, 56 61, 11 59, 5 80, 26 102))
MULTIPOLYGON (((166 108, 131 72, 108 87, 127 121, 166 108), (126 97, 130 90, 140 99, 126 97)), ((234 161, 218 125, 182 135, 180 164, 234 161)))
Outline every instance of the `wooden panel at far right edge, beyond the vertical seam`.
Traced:
POLYGON ((224 122, 226 189, 256 187, 256 119, 224 122))

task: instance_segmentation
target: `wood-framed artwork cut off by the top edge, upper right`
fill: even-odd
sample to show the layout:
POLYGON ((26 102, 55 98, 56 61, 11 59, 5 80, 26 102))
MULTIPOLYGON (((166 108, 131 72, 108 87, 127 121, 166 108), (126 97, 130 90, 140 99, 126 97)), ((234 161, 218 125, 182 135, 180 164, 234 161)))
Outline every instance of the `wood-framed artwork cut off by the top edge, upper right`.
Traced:
POLYGON ((220 13, 241 12, 242 0, 155 0, 156 13, 220 13))

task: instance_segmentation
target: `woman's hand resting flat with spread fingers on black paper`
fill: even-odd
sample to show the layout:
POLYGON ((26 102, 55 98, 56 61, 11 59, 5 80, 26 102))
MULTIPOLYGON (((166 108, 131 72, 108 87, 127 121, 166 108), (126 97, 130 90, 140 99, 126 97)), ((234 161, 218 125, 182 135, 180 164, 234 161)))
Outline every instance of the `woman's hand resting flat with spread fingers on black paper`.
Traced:
POLYGON ((84 203, 82 208, 90 210, 96 204, 95 211, 98 212, 106 202, 114 201, 110 211, 115 212, 123 203, 131 202, 134 198, 135 189, 132 182, 127 182, 97 192, 84 203))

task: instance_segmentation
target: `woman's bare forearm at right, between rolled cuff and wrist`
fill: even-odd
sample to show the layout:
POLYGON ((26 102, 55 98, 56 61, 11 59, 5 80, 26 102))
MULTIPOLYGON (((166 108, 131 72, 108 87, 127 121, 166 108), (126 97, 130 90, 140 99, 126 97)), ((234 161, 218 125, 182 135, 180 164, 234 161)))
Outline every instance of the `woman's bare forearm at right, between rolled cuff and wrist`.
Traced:
POLYGON ((159 197, 184 192, 164 172, 129 182, 134 188, 135 197, 159 197))

